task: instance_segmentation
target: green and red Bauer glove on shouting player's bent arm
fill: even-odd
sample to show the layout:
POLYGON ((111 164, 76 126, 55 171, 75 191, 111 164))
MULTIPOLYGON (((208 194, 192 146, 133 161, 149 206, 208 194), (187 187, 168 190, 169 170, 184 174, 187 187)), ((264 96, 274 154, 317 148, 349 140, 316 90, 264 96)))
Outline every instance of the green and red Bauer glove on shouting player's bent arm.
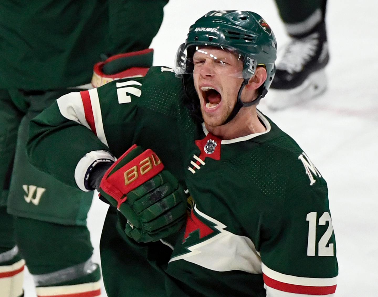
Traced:
POLYGON ((137 242, 158 241, 186 220, 186 194, 151 150, 133 145, 105 173, 99 192, 127 219, 125 233, 137 242))

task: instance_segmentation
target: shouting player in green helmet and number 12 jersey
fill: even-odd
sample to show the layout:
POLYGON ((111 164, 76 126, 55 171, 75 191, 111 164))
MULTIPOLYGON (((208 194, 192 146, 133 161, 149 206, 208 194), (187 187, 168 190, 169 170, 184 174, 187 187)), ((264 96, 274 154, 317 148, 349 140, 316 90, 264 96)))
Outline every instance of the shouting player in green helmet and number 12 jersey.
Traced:
POLYGON ((108 296, 334 295, 327 183, 256 108, 276 47, 258 14, 210 11, 175 69, 67 94, 31 122, 31 163, 112 205, 108 296))

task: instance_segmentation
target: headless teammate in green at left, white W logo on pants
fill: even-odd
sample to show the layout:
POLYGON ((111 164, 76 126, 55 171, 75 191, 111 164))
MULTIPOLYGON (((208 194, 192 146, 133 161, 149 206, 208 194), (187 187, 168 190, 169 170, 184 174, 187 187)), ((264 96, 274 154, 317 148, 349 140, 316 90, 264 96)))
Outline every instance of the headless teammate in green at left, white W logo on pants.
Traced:
POLYGON ((25 261, 38 296, 100 295, 99 266, 91 260, 86 226, 93 193, 28 163, 29 121, 59 96, 91 87, 101 55, 106 61, 96 65, 96 86, 144 75, 152 65, 152 49, 144 49, 160 28, 166 3, 1 2, 0 297, 23 294, 25 261), (120 66, 132 65, 139 67, 119 73, 120 66))

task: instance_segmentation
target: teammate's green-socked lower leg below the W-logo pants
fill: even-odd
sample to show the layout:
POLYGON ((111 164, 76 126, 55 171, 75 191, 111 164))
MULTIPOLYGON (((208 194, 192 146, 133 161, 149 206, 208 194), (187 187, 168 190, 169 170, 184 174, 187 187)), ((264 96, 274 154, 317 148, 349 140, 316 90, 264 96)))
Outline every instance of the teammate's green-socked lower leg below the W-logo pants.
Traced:
POLYGON ((99 296, 100 269, 85 226, 15 218, 15 238, 37 295, 99 296))

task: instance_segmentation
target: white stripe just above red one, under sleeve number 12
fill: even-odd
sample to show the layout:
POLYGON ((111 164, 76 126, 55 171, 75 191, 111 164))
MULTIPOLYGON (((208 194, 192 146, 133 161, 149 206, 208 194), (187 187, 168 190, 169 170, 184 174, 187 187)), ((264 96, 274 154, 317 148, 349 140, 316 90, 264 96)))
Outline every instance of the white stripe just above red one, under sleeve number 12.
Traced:
POLYGON ((287 283, 291 285, 299 286, 315 286, 315 287, 326 287, 336 285, 336 277, 332 278, 313 278, 313 277, 297 277, 294 275, 283 274, 274 271, 267 267, 264 263, 261 263, 262 272, 273 280, 280 281, 282 283, 287 283))

